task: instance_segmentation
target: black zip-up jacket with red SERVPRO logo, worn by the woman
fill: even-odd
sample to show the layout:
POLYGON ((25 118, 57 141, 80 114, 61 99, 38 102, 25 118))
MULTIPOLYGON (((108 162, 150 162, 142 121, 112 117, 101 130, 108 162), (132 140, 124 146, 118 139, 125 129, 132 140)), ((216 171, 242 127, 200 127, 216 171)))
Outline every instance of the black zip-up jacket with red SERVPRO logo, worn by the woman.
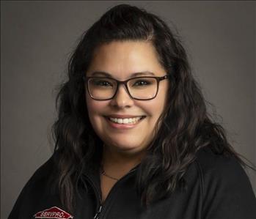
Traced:
POLYGON ((186 171, 186 191, 176 190, 169 198, 151 204, 147 209, 140 207, 136 194, 136 167, 114 185, 102 207, 100 176, 94 171, 85 171, 83 179, 88 192, 83 184, 78 186, 81 196, 76 198, 75 212, 68 215, 60 204, 57 190, 52 190, 54 186, 49 184, 53 166, 51 157, 29 179, 9 219, 37 216, 73 219, 256 218, 255 194, 244 168, 234 158, 215 155, 210 149, 200 149, 197 159, 186 171))

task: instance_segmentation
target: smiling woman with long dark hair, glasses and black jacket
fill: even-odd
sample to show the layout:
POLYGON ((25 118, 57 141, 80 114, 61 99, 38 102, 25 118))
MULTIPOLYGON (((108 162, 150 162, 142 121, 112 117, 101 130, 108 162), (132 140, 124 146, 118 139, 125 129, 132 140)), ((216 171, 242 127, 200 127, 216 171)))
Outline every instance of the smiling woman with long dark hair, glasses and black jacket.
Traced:
POLYGON ((73 53, 57 103, 54 155, 9 218, 256 217, 246 164, 156 15, 106 12, 73 53))

